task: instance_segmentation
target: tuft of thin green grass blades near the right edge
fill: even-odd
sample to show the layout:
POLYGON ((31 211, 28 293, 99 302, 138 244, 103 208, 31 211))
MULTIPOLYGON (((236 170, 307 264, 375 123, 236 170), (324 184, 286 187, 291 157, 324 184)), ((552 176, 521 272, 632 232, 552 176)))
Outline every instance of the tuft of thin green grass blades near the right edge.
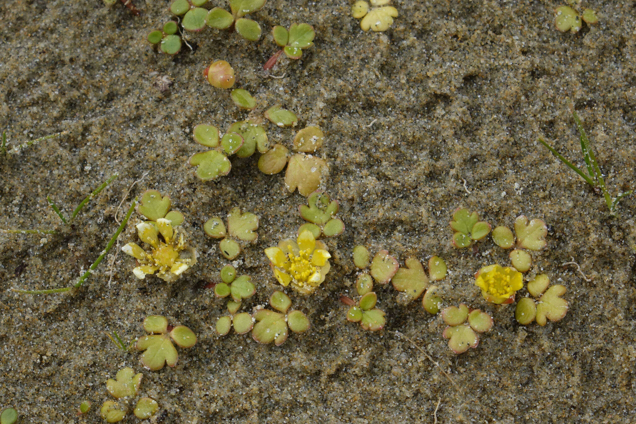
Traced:
POLYGON ((565 159, 565 157, 563 157, 562 154, 558 153, 556 149, 548 145, 548 143, 546 143, 545 140, 539 139, 539 142, 543 144, 543 146, 546 146, 546 148, 550 150, 550 152, 554 154, 557 158, 559 158, 563 163, 565 163, 567 167, 571 168, 572 170, 574 170, 574 172, 579 174, 581 178, 585 180, 585 182, 590 184, 591 188, 595 190, 600 190, 603 193, 603 196, 605 198, 605 204, 607 205, 607 209, 609 209, 609 214, 614 216, 616 215, 616 207, 618 206, 618 202, 620 202, 623 197, 631 195, 633 193, 633 190, 628 190, 623 193, 619 193, 618 196, 616 196, 616 198, 612 198, 612 196, 609 194, 609 191, 607 190, 607 187, 605 187, 605 179, 603 178, 603 173, 600 171, 600 168, 598 167, 596 155, 594 154, 594 151, 590 147, 590 141, 588 140, 588 136, 586 135, 585 130, 583 129, 583 123, 581 123, 581 120, 579 120, 579 116, 576 114, 576 111, 572 112, 572 116, 574 116, 574 121, 576 121, 576 127, 579 130, 579 135, 580 135, 579 140, 581 141, 581 153, 583 153, 583 160, 585 161, 585 165, 588 170, 587 174, 585 174, 585 172, 583 172, 581 168, 577 167, 572 162, 565 159))

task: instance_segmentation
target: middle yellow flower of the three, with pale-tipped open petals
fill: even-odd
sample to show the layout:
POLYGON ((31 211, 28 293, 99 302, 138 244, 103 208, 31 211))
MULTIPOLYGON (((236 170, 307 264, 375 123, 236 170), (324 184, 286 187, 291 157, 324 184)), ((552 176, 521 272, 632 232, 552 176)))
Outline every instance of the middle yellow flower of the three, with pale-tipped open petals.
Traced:
POLYGON ((281 240, 277 247, 268 247, 274 277, 285 287, 309 294, 324 281, 331 257, 324 243, 316 241, 311 231, 303 231, 294 240, 281 240))

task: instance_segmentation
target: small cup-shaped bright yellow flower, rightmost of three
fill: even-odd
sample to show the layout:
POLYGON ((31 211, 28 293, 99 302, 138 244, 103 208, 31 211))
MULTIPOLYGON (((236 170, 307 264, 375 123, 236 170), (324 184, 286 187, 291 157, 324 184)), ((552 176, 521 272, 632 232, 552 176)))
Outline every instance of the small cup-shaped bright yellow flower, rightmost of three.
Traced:
POLYGON ((523 275, 508 266, 485 266, 477 273, 475 285, 481 289, 481 296, 488 302, 513 303, 515 292, 523 287, 523 275))

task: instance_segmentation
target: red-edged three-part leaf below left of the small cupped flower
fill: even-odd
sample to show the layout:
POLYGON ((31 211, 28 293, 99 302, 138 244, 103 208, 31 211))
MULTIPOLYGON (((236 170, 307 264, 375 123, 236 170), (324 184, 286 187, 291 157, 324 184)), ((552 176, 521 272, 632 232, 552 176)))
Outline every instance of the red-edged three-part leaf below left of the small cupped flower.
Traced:
POLYGON ((468 348, 476 348, 479 345, 478 333, 490 331, 492 317, 478 309, 469 310, 468 306, 461 303, 457 306, 448 306, 441 311, 441 317, 448 325, 442 336, 448 340, 448 347, 453 353, 464 353, 468 348), (468 322, 466 322, 466 320, 468 322))

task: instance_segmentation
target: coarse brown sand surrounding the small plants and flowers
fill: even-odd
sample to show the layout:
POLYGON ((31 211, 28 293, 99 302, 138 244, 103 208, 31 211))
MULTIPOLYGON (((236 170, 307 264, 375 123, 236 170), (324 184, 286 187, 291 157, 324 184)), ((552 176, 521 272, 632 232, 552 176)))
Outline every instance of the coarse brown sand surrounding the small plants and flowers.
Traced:
MULTIPOLYGON (((96 410, 107 399, 106 379, 122 366, 141 371, 139 353, 121 352, 104 331, 139 337, 142 319, 161 314, 199 338, 174 369, 144 371, 140 395, 158 400, 165 423, 633 419, 635 200, 609 217, 602 196, 536 142, 546 137, 583 165, 571 100, 613 193, 636 185, 633 2, 593 1, 600 24, 562 34, 552 24, 553 1, 397 1, 392 29, 368 34, 350 17, 350 3, 270 1, 252 15, 266 34, 261 41, 205 29, 188 34, 193 50, 174 58, 144 40, 169 18, 169 3, 135 4, 140 17, 99 0, 18 0, 0 9, 0 122, 9 142, 70 132, 0 158, 0 228, 59 231, 0 235, 0 407, 16 406, 22 422, 102 422, 96 410), (276 50, 269 29, 291 22, 314 25, 315 46, 298 62, 281 60, 272 74, 284 78, 268 78, 262 65, 276 50), (238 263, 258 287, 245 303, 251 308, 279 287, 262 252, 293 235, 303 202, 286 191, 282 174, 258 172, 258 153, 233 158, 232 172, 218 182, 193 175, 188 157, 203 149, 192 128, 223 130, 247 116, 202 78, 215 58, 233 65, 260 111, 280 103, 301 127, 318 125, 327 135, 324 189, 340 201, 347 231, 327 242, 332 270, 322 289, 293 296, 312 329, 280 347, 258 345, 249 334, 218 338, 214 323, 225 302, 204 289, 227 262, 202 231, 206 219, 233 206, 261 217, 258 241, 238 263), (114 172, 120 177, 73 225, 60 226, 46 195, 72 210, 114 172), (197 268, 170 285, 140 282, 134 261, 120 254, 109 282, 113 250, 76 293, 10 291, 71 284, 106 245, 121 199, 146 173, 123 208, 146 188, 170 195, 202 253, 197 268), (515 321, 514 305, 481 298, 473 273, 508 264, 507 252, 490 238, 476 254, 453 249, 448 220, 458 206, 493 225, 511 226, 520 214, 546 221, 548 246, 534 254, 528 277, 545 272, 567 286, 562 321, 526 327, 515 321), (441 337, 441 318, 419 302, 398 304, 390 286, 377 287, 388 318, 383 331, 347 322, 338 298, 353 287, 357 243, 388 249, 401 263, 444 257, 445 303, 487 310, 493 331, 455 355, 441 337), (562 266, 570 257, 590 281, 562 266), (93 410, 76 418, 85 399, 93 410)), ((294 133, 268 127, 270 140, 288 145, 294 133)), ((136 222, 137 214, 121 243, 135 240, 136 222)))

